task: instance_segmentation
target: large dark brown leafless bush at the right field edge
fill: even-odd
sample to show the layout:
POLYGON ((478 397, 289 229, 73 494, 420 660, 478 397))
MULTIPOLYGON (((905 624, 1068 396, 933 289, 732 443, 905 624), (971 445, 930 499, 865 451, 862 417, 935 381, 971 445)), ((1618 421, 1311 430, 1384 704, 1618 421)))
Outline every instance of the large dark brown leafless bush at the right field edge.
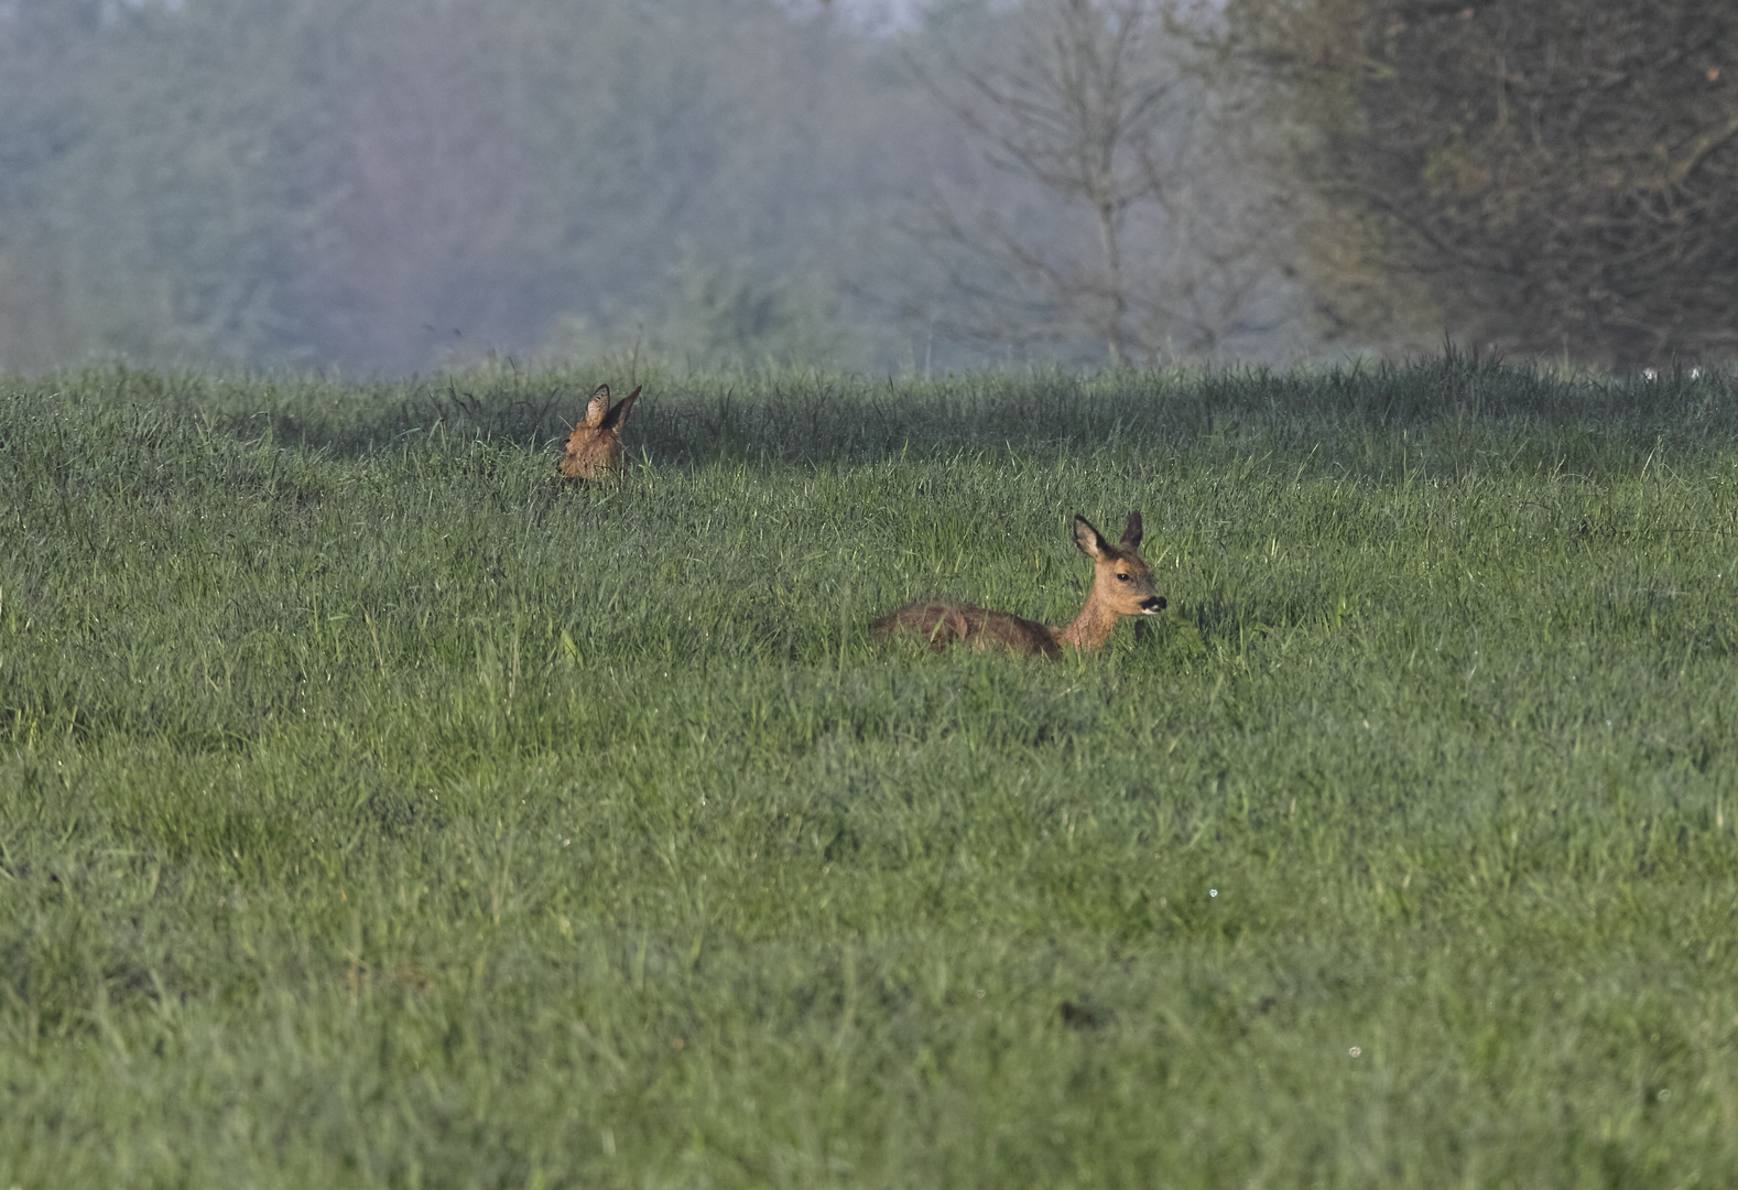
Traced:
POLYGON ((1738 348, 1738 9, 1237 0, 1342 332, 1637 367, 1738 348))

